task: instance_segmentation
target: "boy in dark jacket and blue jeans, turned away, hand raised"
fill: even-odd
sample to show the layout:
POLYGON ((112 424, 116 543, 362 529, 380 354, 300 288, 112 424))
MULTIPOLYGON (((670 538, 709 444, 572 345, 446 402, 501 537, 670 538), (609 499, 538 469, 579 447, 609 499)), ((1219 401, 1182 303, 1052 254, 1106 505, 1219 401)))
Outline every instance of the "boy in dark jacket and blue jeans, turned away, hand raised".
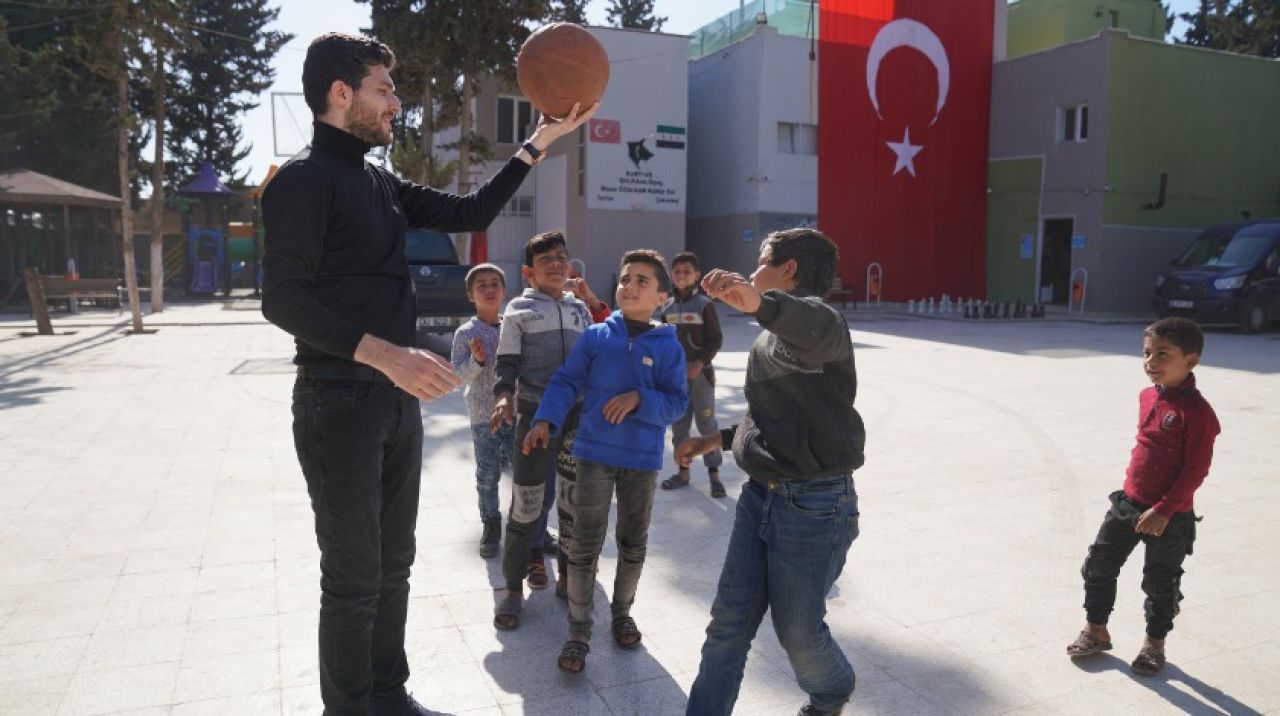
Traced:
POLYGON ((836 259, 822 233, 790 229, 764 240, 750 279, 719 269, 703 279, 708 296, 755 318, 764 332, 746 361, 746 416, 676 450, 689 465, 732 446, 750 478, 737 501, 689 716, 733 711, 765 610, 809 694, 801 715, 840 713, 854 692, 854 670, 824 621, 827 593, 858 537, 852 471, 863 464, 867 437, 854 410, 849 327, 822 300, 836 259))

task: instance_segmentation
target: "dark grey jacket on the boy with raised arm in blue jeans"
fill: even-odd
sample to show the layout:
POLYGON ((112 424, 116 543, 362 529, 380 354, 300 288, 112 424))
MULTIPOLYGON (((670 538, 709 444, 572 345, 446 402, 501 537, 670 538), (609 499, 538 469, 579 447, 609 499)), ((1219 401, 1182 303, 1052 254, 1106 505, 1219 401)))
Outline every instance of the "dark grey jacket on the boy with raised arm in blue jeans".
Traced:
POLYGON ((863 465, 858 371, 845 316, 817 296, 768 291, 746 360, 746 416, 722 430, 754 480, 809 480, 863 465))

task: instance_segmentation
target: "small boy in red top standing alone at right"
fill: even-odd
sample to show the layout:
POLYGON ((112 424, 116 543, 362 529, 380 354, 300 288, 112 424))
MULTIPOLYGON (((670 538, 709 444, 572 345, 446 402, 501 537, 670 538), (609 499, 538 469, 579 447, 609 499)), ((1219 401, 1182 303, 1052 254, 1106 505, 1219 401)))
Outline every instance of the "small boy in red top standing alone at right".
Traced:
POLYGON ((1183 599, 1183 560, 1196 542, 1193 496, 1208 474, 1213 439, 1221 432, 1192 374, 1203 348, 1204 336, 1187 319, 1160 319, 1143 332, 1142 366, 1155 387, 1138 396, 1138 444, 1124 489, 1111 493, 1111 509, 1080 569, 1088 624, 1066 647, 1073 658, 1111 648, 1107 617, 1115 606, 1116 578, 1143 542, 1147 639, 1132 667, 1149 676, 1165 666, 1165 635, 1183 599))

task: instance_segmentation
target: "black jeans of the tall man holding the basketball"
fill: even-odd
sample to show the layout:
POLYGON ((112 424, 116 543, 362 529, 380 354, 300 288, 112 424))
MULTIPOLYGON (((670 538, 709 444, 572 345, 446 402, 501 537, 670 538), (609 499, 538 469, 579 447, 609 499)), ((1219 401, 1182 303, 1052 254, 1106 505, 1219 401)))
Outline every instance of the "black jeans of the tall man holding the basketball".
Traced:
POLYGON ((422 471, 417 398, 370 380, 293 386, 293 441, 320 544, 326 716, 403 699, 404 617, 422 471))

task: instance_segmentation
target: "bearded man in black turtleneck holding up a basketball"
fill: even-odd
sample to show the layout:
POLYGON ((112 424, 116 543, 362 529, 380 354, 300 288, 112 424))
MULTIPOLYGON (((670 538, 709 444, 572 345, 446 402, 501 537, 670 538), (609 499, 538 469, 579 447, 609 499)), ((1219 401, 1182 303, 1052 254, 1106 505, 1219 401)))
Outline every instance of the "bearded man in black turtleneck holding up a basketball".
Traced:
POLYGON ((383 44, 330 33, 307 49, 311 147, 262 193, 262 314, 293 334, 293 437, 320 544, 326 715, 426 713, 408 693, 404 617, 422 468, 420 401, 460 384, 415 348, 408 227, 483 231, 557 138, 595 108, 544 119, 484 186, 453 196, 367 164, 401 111, 383 44))

